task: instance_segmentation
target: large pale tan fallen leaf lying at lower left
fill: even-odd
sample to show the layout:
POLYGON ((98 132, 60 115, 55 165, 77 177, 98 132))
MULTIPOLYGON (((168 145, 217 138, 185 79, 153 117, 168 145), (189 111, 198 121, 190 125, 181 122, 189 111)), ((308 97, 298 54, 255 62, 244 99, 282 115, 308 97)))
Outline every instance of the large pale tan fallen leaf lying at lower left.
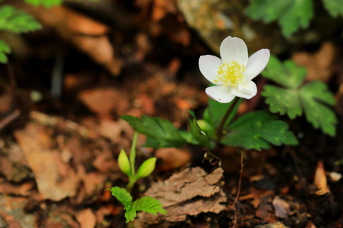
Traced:
POLYGON ((52 149, 49 130, 36 123, 28 123, 24 129, 16 130, 14 135, 34 172, 42 197, 54 201, 74 197, 79 179, 74 170, 61 161, 59 151, 52 149))

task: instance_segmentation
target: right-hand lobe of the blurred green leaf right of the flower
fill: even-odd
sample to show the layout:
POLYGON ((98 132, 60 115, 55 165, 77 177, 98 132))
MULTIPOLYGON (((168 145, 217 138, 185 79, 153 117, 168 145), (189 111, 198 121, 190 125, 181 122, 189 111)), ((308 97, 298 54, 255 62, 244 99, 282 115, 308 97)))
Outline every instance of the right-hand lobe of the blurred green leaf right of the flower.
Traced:
POLYGON ((307 120, 314 128, 321 128, 324 133, 336 135, 337 118, 327 105, 334 105, 334 97, 327 85, 320 81, 307 83, 299 91, 307 120))

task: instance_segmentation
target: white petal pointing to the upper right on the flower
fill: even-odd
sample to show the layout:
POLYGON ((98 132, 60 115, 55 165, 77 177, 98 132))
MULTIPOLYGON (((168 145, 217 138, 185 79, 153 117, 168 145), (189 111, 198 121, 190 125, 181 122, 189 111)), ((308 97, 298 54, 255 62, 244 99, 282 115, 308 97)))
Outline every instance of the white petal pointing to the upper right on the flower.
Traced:
POLYGON ((247 80, 252 80, 261 73, 267 66, 269 61, 270 51, 268 49, 261 49, 248 59, 247 68, 244 71, 244 76, 247 80))

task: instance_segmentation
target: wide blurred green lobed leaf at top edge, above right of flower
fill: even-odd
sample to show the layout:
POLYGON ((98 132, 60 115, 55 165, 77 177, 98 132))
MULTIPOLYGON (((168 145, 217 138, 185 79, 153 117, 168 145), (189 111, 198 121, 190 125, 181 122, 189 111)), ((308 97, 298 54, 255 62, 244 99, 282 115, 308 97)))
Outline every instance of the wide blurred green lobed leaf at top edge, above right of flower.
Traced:
POLYGON ((313 3, 312 0, 254 0, 247 8, 246 14, 264 23, 278 21, 284 36, 290 36, 299 28, 309 26, 313 17, 313 3))

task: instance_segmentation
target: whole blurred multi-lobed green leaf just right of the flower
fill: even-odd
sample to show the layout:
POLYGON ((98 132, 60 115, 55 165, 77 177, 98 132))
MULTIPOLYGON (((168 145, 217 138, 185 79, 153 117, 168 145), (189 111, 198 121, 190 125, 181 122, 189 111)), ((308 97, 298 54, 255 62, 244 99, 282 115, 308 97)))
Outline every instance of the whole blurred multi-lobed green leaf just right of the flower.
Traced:
POLYGON ((314 128, 335 135, 337 118, 327 107, 334 105, 334 97, 324 83, 312 81, 304 84, 307 75, 305 68, 292 61, 281 63, 274 56, 271 56, 262 75, 282 86, 264 86, 262 95, 266 97, 272 113, 287 114, 291 119, 304 113, 314 128))

